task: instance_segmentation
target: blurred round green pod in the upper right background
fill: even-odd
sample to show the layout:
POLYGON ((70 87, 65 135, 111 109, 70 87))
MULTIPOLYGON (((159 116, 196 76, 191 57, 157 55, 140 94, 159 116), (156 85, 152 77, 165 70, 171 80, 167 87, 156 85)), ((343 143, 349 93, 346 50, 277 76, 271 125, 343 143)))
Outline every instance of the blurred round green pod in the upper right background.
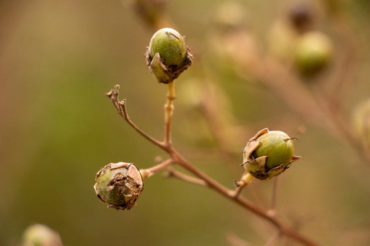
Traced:
POLYGON ((319 31, 310 31, 297 40, 295 64, 301 73, 313 74, 329 64, 332 53, 330 38, 319 31))

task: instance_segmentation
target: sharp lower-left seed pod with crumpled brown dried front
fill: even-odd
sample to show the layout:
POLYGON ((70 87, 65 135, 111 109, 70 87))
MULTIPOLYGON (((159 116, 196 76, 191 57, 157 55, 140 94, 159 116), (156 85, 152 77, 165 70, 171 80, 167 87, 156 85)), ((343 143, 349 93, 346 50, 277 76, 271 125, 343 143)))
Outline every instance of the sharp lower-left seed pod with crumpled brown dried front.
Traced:
POLYGON ((143 177, 133 163, 110 163, 97 172, 95 193, 108 208, 130 209, 143 191, 143 177))

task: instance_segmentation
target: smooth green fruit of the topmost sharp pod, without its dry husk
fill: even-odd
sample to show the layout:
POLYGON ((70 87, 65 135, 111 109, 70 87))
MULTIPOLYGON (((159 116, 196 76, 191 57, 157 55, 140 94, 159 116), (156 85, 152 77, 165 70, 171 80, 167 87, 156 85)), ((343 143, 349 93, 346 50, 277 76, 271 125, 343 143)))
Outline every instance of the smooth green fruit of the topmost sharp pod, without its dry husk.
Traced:
POLYGON ((184 38, 176 30, 163 28, 154 33, 149 44, 149 56, 159 53, 166 66, 181 66, 186 61, 187 49, 184 38))

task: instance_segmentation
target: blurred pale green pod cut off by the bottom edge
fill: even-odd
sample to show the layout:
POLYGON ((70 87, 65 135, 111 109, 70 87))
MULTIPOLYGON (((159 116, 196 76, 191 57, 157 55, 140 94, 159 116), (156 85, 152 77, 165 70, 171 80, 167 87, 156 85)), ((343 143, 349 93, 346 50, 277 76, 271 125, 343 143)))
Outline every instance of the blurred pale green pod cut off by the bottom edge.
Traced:
POLYGON ((22 246, 62 246, 58 232, 48 226, 36 223, 23 232, 22 246))

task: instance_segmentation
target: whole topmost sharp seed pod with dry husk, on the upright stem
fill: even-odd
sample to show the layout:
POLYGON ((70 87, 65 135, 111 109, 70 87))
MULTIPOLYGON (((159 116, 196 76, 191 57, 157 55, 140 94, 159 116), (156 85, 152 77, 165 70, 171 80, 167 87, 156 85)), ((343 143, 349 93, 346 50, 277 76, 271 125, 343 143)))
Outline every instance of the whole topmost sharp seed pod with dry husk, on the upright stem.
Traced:
POLYGON ((191 66, 184 37, 176 30, 163 28, 154 33, 145 53, 147 66, 160 83, 170 83, 191 66))

